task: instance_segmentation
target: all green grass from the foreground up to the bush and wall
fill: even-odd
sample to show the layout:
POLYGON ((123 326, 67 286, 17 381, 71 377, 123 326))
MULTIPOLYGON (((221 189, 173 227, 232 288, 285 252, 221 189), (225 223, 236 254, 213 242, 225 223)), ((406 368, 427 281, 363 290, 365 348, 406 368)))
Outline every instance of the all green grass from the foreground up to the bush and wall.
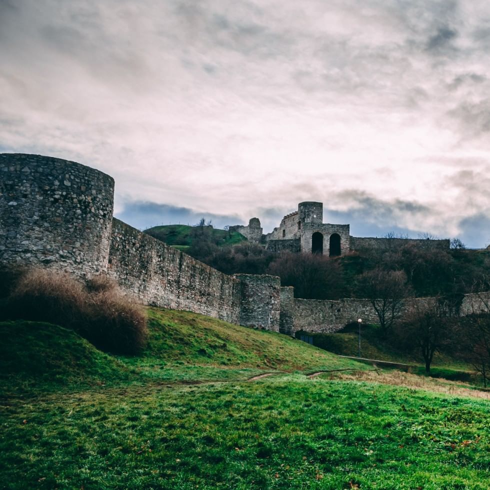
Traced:
POLYGON ((487 488, 488 401, 366 382, 397 381, 277 333, 148 316, 146 349, 118 358, 0 324, 2 488, 487 488))

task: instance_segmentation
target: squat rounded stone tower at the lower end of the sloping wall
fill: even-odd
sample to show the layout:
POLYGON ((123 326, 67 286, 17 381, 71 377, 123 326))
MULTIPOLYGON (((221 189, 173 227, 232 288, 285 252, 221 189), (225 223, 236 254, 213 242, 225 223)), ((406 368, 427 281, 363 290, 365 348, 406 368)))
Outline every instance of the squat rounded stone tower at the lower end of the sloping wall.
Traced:
POLYGON ((279 331, 280 279, 273 275, 235 274, 241 282, 240 325, 279 331))

